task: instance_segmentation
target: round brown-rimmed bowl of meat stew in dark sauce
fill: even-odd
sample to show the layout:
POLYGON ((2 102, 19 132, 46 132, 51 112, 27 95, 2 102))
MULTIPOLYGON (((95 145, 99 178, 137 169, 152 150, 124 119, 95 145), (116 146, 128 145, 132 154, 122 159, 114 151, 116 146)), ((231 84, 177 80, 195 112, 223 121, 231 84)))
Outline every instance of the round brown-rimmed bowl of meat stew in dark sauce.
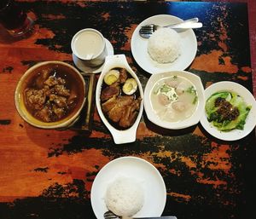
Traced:
POLYGON ((29 124, 43 129, 68 127, 84 107, 80 72, 62 61, 43 61, 29 68, 15 89, 15 106, 29 124))

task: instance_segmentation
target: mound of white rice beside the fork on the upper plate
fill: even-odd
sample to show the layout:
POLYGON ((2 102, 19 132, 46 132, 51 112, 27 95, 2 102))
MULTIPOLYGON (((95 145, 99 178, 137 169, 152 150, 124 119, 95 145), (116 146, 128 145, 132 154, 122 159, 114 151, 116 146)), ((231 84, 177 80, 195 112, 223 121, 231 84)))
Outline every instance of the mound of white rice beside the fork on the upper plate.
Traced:
POLYGON ((148 39, 148 54, 159 63, 170 63, 181 53, 180 36, 170 28, 160 28, 148 39))

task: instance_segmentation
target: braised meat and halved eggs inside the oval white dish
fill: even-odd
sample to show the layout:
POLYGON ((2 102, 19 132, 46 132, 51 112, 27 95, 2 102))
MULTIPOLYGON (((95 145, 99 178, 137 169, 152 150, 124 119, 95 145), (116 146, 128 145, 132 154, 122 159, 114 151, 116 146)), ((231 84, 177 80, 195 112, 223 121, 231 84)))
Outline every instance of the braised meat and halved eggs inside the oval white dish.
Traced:
POLYGON ((142 98, 137 81, 125 68, 112 68, 105 74, 100 98, 102 112, 115 129, 125 130, 134 124, 142 98))

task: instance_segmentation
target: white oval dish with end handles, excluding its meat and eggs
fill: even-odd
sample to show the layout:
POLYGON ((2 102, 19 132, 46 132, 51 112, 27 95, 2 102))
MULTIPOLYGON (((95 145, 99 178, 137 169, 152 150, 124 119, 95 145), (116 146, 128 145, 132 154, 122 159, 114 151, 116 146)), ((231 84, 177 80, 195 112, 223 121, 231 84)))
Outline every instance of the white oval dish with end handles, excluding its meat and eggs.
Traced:
POLYGON ((113 141, 115 144, 124 144, 124 143, 130 143, 130 142, 136 141, 137 127, 143 115, 143 87, 139 79, 137 78, 136 73, 133 72, 133 70, 131 69, 131 66, 129 66, 128 62, 126 61, 125 55, 108 55, 106 57, 106 62, 103 66, 102 73, 96 85, 96 108, 100 115, 100 118, 102 119, 102 122, 107 126, 108 130, 113 136, 113 141), (127 130, 115 129, 113 125, 108 123, 108 119, 105 117, 105 115, 102 112, 101 92, 102 92, 103 79, 106 73, 108 73, 109 70, 115 67, 125 68, 126 71, 129 72, 131 76, 136 79, 137 85, 138 85, 137 87, 139 89, 140 96, 142 98, 137 119, 135 123, 127 130))

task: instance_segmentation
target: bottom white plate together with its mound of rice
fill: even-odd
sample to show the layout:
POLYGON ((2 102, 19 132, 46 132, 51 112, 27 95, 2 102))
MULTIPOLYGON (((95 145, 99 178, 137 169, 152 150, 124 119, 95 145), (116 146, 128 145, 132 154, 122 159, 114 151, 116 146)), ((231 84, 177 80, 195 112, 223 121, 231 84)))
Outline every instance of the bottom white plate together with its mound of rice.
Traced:
POLYGON ((117 216, 161 216, 166 185, 160 172, 143 158, 116 158, 96 175, 90 202, 98 219, 109 210, 117 216))

